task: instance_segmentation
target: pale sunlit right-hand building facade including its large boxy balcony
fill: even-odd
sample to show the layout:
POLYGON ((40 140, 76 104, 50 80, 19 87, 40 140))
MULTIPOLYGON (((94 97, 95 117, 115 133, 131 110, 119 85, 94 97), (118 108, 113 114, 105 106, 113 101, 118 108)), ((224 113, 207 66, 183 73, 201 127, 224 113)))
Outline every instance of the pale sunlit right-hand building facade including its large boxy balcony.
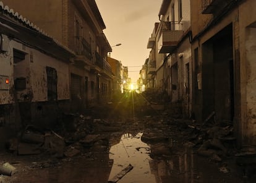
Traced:
POLYGON ((190 45, 190 1, 163 1, 147 48, 151 74, 148 87, 180 103, 184 117, 192 115, 192 54, 190 45))

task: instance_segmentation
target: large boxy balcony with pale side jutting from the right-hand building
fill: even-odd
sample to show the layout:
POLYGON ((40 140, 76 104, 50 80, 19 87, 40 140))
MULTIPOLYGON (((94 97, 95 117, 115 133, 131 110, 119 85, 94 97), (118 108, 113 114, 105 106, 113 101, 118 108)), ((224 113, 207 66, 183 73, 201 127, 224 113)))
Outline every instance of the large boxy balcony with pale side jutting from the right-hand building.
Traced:
POLYGON ((171 53, 178 45, 183 30, 162 30, 158 41, 158 53, 171 53))

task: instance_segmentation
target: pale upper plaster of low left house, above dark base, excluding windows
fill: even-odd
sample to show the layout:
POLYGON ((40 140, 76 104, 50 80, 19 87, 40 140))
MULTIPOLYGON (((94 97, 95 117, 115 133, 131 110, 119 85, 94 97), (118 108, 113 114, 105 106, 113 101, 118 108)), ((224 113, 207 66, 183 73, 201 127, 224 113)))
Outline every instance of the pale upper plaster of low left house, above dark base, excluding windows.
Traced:
POLYGON ((48 101, 46 67, 57 71, 58 100, 69 100, 69 64, 48 56, 36 49, 22 45, 17 41, 10 42, 10 59, 13 61, 13 48, 25 53, 25 60, 15 63, 14 79, 26 78, 26 89, 17 91, 18 101, 48 101))

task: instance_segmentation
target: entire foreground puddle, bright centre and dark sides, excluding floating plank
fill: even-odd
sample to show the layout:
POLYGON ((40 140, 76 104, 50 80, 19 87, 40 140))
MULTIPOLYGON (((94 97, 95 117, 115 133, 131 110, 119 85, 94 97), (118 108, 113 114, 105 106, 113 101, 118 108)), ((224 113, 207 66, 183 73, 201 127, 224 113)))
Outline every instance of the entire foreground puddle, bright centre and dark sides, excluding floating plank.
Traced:
POLYGON ((245 182, 241 169, 234 164, 223 166, 210 162, 208 158, 197 156, 191 148, 171 149, 171 155, 151 156, 152 159, 151 145, 141 141, 142 133, 116 134, 113 137, 109 153, 95 152, 92 160, 80 157, 54 167, 26 171, 23 171, 21 164, 20 168, 17 167, 20 169, 17 174, 6 178, 0 176, 0 182, 104 183, 129 164, 134 168, 117 183, 245 182))

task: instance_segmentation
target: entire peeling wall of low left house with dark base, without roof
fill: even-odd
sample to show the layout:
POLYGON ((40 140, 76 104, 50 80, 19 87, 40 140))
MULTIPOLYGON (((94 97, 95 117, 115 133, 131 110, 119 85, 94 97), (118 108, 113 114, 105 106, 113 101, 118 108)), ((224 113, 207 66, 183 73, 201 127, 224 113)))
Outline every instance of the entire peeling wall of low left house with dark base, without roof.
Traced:
POLYGON ((69 62, 48 56, 17 40, 7 44, 9 50, 0 54, 0 74, 9 77, 10 87, 0 90, 0 130, 2 127, 17 129, 21 124, 54 125, 60 110, 69 110, 69 62), (14 49, 20 53, 20 59, 14 59, 14 49), (58 103, 48 101, 46 67, 56 69, 58 103), (14 87, 17 78, 25 79, 20 90, 14 87))

